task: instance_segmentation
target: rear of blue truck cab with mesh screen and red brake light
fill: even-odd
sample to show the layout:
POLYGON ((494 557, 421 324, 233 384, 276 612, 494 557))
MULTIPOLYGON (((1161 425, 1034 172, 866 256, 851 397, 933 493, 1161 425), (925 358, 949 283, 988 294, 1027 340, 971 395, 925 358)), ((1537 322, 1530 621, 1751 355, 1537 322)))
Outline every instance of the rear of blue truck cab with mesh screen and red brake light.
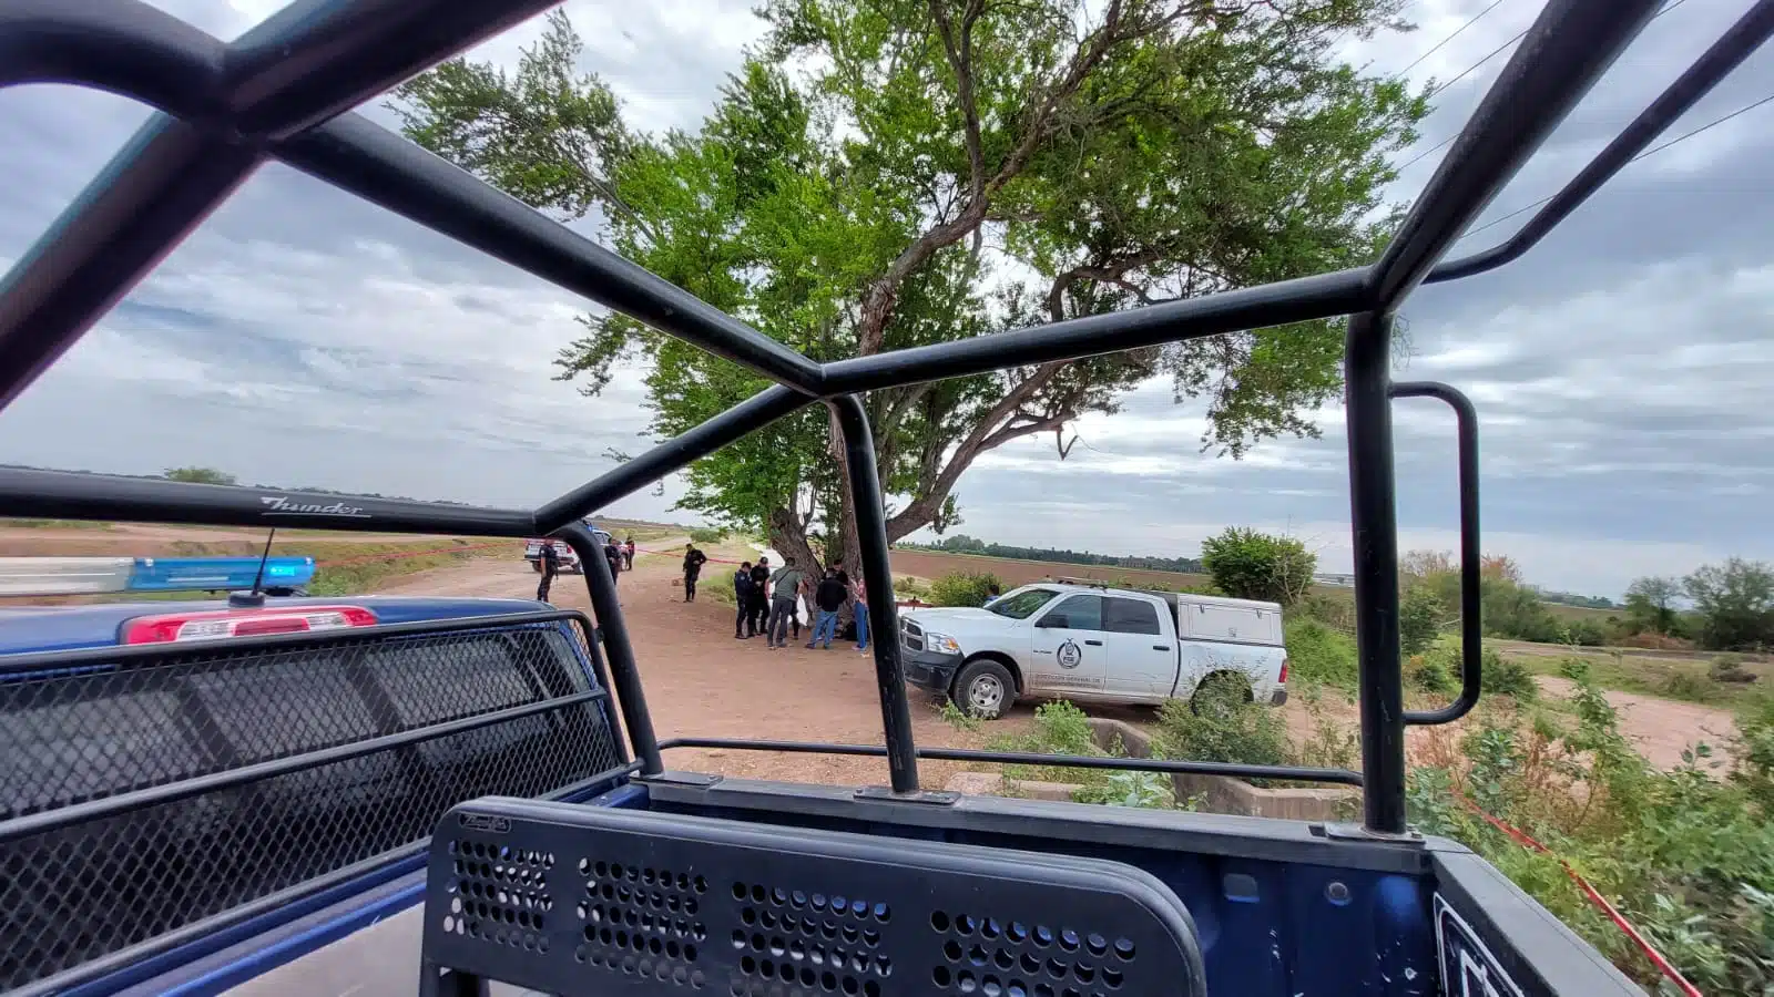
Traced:
POLYGON ((0 992, 216 993, 385 946, 449 805, 616 786, 605 690, 585 617, 532 601, 0 612, 0 992))

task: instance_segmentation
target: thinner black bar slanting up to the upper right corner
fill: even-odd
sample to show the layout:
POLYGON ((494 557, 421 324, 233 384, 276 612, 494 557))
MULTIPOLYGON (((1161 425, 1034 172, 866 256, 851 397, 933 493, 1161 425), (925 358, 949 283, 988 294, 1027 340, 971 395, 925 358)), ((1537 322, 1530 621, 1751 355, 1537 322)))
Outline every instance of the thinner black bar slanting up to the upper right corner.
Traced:
POLYGON ((1508 241, 1472 255, 1442 263, 1425 284, 1458 280, 1513 263, 1535 248, 1559 222, 1582 206, 1597 190, 1627 167, 1646 145, 1699 103, 1721 80, 1730 76, 1751 53, 1774 35, 1774 0, 1760 0, 1712 43, 1675 83, 1657 96, 1607 149, 1565 184, 1545 208, 1535 213, 1508 241))

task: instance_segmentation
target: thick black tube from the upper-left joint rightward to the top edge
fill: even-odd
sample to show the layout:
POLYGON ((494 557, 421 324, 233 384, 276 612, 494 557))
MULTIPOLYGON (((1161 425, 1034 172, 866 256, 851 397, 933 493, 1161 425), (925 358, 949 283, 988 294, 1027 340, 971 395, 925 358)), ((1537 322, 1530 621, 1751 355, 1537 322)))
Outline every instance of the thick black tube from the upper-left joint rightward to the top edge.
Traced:
POLYGON ((293 135, 555 2, 296 0, 227 46, 229 119, 243 135, 293 135))

